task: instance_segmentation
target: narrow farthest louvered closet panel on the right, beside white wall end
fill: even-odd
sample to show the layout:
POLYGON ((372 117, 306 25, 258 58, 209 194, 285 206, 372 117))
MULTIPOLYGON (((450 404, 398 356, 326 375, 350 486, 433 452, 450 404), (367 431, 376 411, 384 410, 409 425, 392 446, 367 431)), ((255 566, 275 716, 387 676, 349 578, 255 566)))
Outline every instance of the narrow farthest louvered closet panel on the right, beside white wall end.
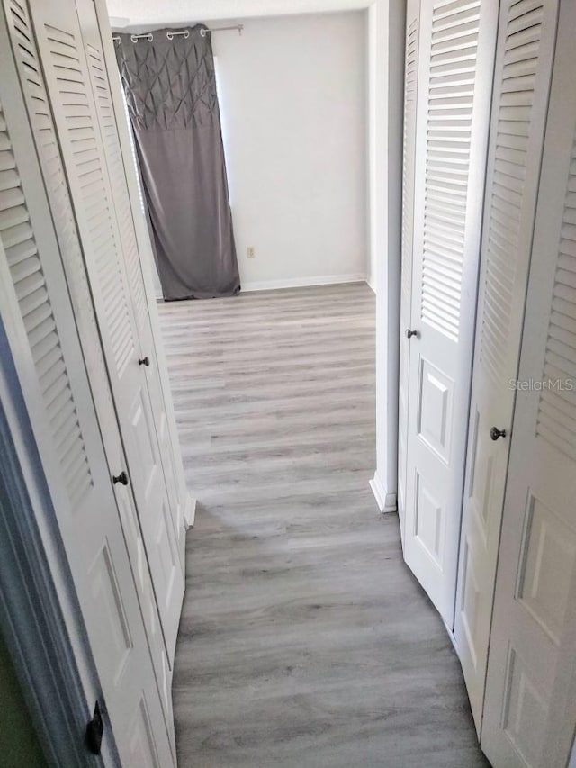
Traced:
MULTIPOLYGON (((401 329, 410 327, 412 302, 412 227, 414 213, 414 154, 416 149, 416 95, 418 88, 419 0, 409 0, 406 9, 406 58, 404 68, 404 139, 402 158, 402 265, 401 329)), ((408 438, 408 394, 410 341, 402 332, 398 388, 398 516, 402 545, 406 510, 406 448, 408 438)))

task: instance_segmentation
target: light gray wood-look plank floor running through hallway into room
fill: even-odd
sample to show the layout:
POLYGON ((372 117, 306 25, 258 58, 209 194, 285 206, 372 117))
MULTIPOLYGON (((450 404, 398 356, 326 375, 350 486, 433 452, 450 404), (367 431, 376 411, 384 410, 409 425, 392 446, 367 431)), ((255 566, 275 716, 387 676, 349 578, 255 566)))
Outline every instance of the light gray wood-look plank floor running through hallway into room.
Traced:
POLYGON ((477 768, 455 652, 374 474, 374 294, 160 305, 189 487, 180 768, 477 768))

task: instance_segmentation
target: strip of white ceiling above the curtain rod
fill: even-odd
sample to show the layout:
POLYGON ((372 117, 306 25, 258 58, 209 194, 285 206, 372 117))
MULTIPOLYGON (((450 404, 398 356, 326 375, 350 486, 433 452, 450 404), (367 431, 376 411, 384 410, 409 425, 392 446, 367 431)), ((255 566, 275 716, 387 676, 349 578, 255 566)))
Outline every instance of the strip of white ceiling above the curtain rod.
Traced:
POLYGON ((112 28, 355 11, 374 0, 107 0, 112 28))

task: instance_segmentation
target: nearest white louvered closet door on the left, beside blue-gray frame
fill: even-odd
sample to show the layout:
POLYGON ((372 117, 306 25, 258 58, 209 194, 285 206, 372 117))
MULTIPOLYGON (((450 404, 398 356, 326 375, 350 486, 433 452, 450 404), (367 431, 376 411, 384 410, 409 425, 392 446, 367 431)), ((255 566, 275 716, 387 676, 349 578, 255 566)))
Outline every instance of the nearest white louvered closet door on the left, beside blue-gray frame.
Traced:
MULTIPOLYGON (((6 10, 20 43, 31 45, 23 5, 12 0, 6 10)), ((1 5, 0 63, 0 312, 102 686, 101 707, 124 765, 164 768, 175 761, 1 5)))

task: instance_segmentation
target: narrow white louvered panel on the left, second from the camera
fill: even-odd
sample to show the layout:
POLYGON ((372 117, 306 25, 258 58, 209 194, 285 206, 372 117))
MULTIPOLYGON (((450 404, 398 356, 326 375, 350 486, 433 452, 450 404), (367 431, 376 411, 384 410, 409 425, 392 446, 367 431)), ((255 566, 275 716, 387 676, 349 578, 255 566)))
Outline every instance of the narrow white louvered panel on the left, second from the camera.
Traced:
MULTIPOLYGON (((40 68, 38 51, 31 33, 27 7, 18 0, 4 0, 8 32, 12 40, 14 59, 28 108, 31 130, 40 159, 44 185, 49 194, 49 206, 54 220, 62 263, 70 286, 70 298, 76 325, 83 344, 85 365, 89 373, 91 390, 98 421, 101 426, 104 449, 112 474, 126 465, 121 437, 112 403, 110 387, 103 359, 102 346, 94 317, 92 297, 88 288, 82 249, 78 240, 74 212, 70 202, 66 176, 58 150, 58 137, 49 108, 48 95, 40 68)), ((129 549, 132 571, 137 577, 139 601, 148 634, 148 642, 155 664, 157 681, 162 691, 166 717, 172 719, 170 668, 166 646, 157 615, 157 605, 148 571, 146 552, 136 507, 130 488, 114 485, 116 500, 121 511, 122 528, 129 549)), ((170 725, 170 731, 172 727, 170 725)))

